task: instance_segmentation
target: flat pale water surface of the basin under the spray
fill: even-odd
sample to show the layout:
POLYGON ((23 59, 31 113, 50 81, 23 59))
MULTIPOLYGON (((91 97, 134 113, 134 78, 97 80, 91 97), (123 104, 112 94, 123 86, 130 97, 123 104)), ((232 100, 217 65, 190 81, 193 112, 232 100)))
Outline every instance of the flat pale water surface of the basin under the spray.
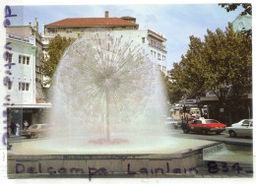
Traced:
MULTIPOLYGON (((13 143, 14 154, 133 154, 179 153, 185 150, 214 144, 210 141, 194 141, 168 136, 122 137, 129 140, 121 144, 93 144, 94 136, 72 138, 47 138, 13 143)), ((120 138, 117 136, 116 138, 120 138)), ((112 136, 112 139, 115 138, 112 136)))

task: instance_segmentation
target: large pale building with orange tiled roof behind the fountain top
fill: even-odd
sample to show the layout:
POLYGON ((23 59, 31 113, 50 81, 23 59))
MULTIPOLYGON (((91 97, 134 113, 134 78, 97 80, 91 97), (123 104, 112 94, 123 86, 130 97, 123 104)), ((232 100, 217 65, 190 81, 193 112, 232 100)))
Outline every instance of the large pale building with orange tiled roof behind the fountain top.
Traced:
POLYGON ((136 18, 109 18, 105 12, 104 18, 68 18, 44 26, 42 37, 43 49, 48 48, 49 40, 57 34, 72 38, 92 37, 96 31, 109 31, 113 35, 123 35, 142 43, 151 60, 160 65, 160 70, 166 75, 166 38, 150 30, 139 30, 136 18))

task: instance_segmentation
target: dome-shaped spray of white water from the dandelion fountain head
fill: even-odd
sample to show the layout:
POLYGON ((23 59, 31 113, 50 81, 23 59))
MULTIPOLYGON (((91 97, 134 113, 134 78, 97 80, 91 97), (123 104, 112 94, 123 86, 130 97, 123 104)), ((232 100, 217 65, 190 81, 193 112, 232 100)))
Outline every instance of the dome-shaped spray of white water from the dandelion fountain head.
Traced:
POLYGON ((142 139, 164 132, 159 66, 131 39, 101 33, 75 41, 61 59, 53 89, 53 137, 126 143, 120 135, 142 139))

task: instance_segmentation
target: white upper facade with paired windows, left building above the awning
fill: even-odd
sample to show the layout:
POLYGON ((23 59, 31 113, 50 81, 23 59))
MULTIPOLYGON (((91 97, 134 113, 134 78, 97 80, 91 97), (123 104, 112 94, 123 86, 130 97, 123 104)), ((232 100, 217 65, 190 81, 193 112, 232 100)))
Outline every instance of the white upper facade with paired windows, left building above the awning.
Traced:
POLYGON ((7 33, 7 42, 11 42, 9 62, 12 67, 11 82, 8 84, 8 94, 15 104, 35 103, 35 40, 7 33))

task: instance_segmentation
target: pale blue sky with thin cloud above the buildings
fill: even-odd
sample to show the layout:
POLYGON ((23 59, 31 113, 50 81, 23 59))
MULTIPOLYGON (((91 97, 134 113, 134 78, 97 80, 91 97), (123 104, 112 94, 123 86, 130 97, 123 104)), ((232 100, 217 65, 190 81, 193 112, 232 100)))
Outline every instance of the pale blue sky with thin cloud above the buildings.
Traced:
POLYGON ((207 29, 224 30, 228 22, 242 11, 227 13, 218 4, 154 4, 154 5, 65 5, 65 6, 13 6, 12 26, 29 25, 37 18, 39 31, 43 24, 50 24, 66 18, 135 17, 139 30, 152 30, 167 39, 167 69, 173 62, 179 62, 188 49, 189 36, 204 38, 207 29))

